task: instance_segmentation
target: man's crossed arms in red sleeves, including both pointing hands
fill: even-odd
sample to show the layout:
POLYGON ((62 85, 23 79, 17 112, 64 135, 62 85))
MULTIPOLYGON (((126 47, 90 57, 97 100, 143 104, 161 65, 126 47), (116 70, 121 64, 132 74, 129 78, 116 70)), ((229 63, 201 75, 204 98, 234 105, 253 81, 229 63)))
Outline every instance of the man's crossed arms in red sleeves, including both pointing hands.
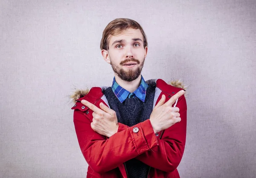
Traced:
MULTIPOLYGON (((163 108, 160 106, 172 106, 172 100, 169 101, 166 102, 167 104, 163 104, 164 101, 161 102, 160 100, 158 102, 159 105, 157 104, 154 110, 158 108, 163 113, 163 108)), ((132 158, 137 158, 151 167, 166 172, 175 170, 180 163, 186 140, 186 100, 184 96, 181 96, 177 103, 177 108, 180 108, 179 111, 177 112, 177 108, 175 110, 175 119, 180 118, 181 120, 177 119, 175 122, 169 116, 169 120, 173 120, 174 124, 171 121, 168 122, 172 126, 164 130, 161 139, 159 136, 155 136, 155 133, 162 128, 159 125, 153 126, 154 120, 151 121, 152 119, 136 124, 133 127, 128 127, 117 123, 110 108, 104 105, 97 107, 84 101, 82 103, 94 111, 89 113, 92 114, 93 120, 90 121, 84 118, 86 115, 83 112, 75 110, 74 124, 76 134, 84 158, 96 172, 107 172, 132 158), (105 116, 102 118, 103 115, 99 112, 103 111, 105 116), (102 125, 102 128, 104 126, 105 130, 101 130, 100 125, 102 125), (134 133, 132 131, 134 127, 138 127, 140 131, 134 133), (109 138, 107 139, 106 136, 109 138)), ((158 119, 158 122, 160 121, 159 117, 154 117, 158 119)), ((166 123, 163 125, 166 125, 166 123)))

